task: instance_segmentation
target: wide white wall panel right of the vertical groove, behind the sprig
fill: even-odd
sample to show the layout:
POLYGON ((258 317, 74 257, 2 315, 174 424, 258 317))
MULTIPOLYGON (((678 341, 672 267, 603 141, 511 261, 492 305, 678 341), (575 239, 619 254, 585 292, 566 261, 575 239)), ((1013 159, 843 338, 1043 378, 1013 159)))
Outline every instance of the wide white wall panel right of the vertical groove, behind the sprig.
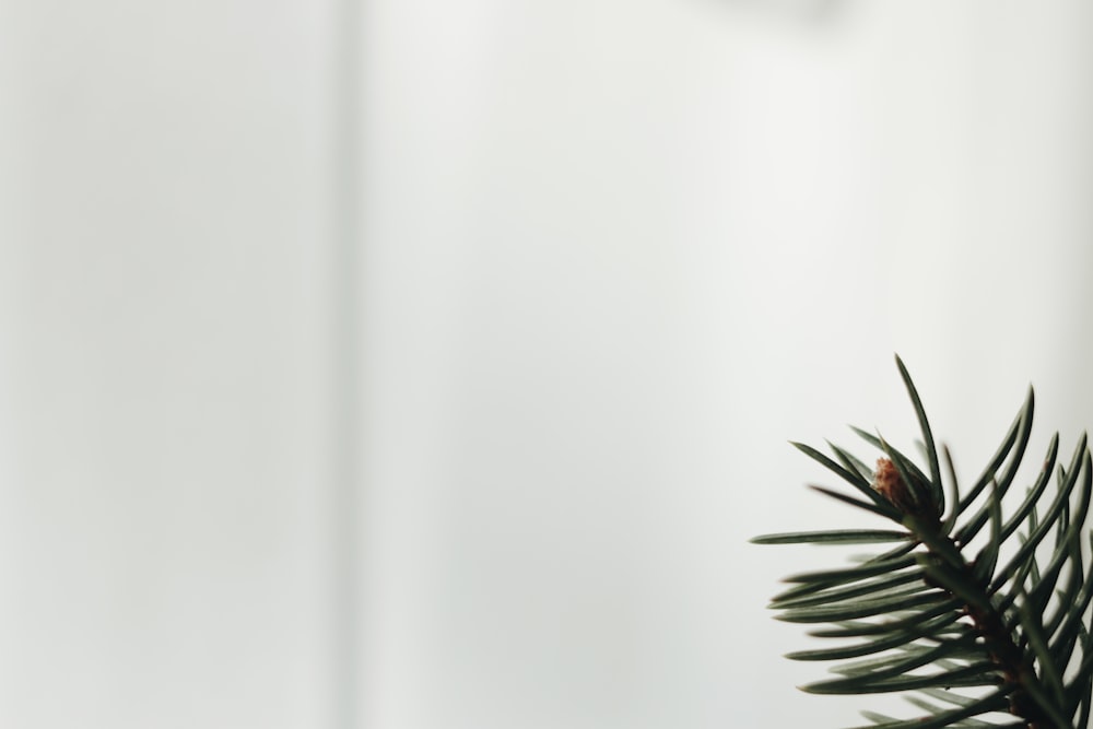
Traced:
POLYGON ((744 540, 893 351, 966 475, 1088 422, 1089 12, 373 3, 368 726, 860 722, 744 540))

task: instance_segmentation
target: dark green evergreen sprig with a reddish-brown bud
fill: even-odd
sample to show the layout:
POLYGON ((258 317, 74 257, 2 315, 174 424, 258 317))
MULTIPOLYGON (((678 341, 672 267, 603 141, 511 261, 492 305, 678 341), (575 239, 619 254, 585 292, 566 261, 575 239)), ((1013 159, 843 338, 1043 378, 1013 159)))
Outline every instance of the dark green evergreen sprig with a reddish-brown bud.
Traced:
POLYGON ((900 357, 896 366, 921 430, 921 467, 879 435, 857 428, 880 450, 875 469, 831 444, 831 456, 794 444, 851 486, 850 492, 813 489, 888 519, 889 528, 752 540, 890 544, 850 566, 787 577, 790 587, 772 600, 779 620, 826 624, 810 635, 837 642, 787 656, 844 661, 832 669, 836 678, 801 689, 902 693, 924 713, 904 720, 862 712, 873 722, 868 729, 1084 729, 1093 687, 1093 568, 1083 554, 1083 541, 1093 544, 1085 529, 1093 461, 1085 435, 1065 466, 1058 461, 1058 435, 1051 438, 1038 477, 1007 516, 1003 498, 1032 432, 1032 389, 983 473, 962 493, 952 458, 945 448, 939 454, 900 357))

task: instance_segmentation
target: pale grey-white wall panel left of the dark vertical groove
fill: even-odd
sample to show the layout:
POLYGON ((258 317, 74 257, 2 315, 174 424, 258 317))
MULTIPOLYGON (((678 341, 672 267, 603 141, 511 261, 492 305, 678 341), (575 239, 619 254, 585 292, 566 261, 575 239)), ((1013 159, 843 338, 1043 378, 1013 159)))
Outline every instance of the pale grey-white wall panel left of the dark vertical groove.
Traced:
POLYGON ((4 3, 3 726, 329 726, 328 12, 4 3))

